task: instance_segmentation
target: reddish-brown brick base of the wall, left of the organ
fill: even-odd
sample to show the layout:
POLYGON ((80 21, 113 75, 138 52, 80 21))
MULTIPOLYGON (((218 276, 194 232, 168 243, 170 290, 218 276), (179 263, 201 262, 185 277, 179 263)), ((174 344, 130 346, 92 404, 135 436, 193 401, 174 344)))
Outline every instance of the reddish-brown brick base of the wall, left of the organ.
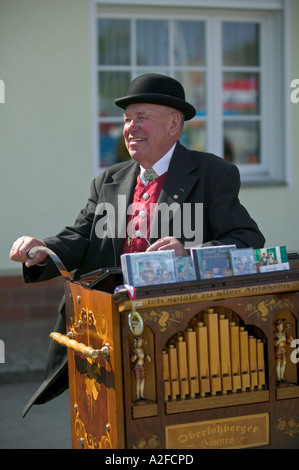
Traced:
POLYGON ((0 277, 0 322, 56 319, 64 279, 25 284, 22 276, 0 277))

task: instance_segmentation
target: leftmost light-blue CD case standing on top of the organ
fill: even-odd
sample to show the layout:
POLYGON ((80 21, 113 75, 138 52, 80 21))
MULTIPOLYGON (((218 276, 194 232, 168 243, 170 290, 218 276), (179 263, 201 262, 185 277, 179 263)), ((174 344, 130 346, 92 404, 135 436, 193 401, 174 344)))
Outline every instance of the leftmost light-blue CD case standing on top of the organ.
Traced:
POLYGON ((134 287, 177 282, 175 251, 151 251, 121 255, 125 284, 134 287))

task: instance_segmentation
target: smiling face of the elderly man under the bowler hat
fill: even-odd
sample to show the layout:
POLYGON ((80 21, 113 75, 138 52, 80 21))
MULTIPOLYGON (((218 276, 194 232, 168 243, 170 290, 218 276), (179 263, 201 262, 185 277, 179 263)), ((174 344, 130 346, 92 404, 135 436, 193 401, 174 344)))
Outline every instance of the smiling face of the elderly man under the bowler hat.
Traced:
POLYGON ((124 114, 123 135, 129 154, 150 168, 178 139, 179 113, 157 104, 130 104, 124 114))

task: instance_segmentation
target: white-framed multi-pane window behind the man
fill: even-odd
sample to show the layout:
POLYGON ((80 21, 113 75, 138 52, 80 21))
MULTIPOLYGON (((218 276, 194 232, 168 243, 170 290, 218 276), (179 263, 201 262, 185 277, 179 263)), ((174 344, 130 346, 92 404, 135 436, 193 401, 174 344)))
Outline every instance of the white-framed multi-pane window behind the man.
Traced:
POLYGON ((283 182, 280 13, 139 10, 98 11, 98 166, 129 158, 114 100, 137 75, 157 72, 177 78, 197 110, 183 145, 232 161, 243 183, 283 182))

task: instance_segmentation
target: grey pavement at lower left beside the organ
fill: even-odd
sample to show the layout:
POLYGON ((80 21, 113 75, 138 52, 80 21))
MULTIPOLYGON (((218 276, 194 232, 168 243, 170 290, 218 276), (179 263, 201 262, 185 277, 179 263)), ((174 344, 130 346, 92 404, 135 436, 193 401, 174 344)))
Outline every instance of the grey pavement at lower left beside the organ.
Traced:
POLYGON ((68 390, 22 418, 43 379, 54 321, 0 322, 0 449, 72 448, 68 390))

